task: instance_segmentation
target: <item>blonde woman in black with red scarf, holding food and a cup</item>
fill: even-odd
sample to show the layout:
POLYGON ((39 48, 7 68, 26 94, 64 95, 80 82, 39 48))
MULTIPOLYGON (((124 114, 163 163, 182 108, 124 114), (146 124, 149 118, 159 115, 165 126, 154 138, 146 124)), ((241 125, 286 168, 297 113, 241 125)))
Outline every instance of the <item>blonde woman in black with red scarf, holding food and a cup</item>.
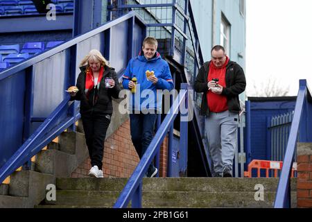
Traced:
POLYGON ((85 130, 92 168, 89 176, 103 178, 102 160, 106 131, 112 117, 112 97, 118 99, 120 87, 114 68, 96 49, 80 62, 76 87, 69 92, 71 100, 80 101, 80 114, 85 130))

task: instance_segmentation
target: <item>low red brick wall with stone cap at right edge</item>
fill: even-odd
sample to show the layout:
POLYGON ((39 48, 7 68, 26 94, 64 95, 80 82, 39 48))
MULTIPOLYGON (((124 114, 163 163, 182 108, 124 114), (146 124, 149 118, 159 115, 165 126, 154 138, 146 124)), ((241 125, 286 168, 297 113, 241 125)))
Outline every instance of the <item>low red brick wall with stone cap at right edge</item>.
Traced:
POLYGON ((297 207, 312 207, 312 144, 297 145, 297 207))

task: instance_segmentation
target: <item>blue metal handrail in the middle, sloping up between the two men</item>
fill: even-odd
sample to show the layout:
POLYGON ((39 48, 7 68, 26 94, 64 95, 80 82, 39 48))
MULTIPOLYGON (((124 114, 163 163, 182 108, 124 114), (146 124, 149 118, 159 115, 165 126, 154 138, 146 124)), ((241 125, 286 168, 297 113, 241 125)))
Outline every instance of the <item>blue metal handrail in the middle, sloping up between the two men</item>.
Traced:
POLYGON ((161 126, 157 130, 155 137, 148 146, 146 152, 144 153, 141 161, 133 171, 132 176, 129 178, 127 184, 121 191, 119 198, 116 200, 114 208, 127 207, 132 198, 132 207, 141 207, 141 189, 142 189, 142 179, 144 178, 144 173, 147 171, 148 166, 152 162, 156 153, 158 152, 159 145, 163 142, 168 129, 173 124, 173 121, 177 117, 179 107, 183 101, 187 103, 187 84, 182 84, 181 92, 175 99, 173 105, 170 108, 170 112, 166 115, 166 118, 162 122, 161 126))

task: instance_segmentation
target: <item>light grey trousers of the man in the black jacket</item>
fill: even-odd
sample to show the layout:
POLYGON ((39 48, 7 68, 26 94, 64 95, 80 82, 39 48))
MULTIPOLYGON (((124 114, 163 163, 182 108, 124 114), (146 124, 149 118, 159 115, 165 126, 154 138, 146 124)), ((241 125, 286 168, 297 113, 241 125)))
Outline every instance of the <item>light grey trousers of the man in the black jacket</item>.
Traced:
POLYGON ((214 176, 222 176, 225 169, 232 171, 238 126, 239 114, 234 112, 210 112, 205 119, 205 134, 208 139, 208 153, 214 164, 214 176))

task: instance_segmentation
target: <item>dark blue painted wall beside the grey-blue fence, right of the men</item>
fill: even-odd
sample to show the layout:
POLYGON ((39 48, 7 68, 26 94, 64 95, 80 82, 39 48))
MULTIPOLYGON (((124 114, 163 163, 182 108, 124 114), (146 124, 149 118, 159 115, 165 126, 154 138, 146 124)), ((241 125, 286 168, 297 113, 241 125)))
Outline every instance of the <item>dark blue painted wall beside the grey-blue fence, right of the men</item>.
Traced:
POLYGON ((248 100, 251 113, 251 159, 268 160, 266 119, 295 110, 295 98, 283 100, 281 97, 279 101, 270 101, 269 98, 263 101, 254 98, 248 100))

